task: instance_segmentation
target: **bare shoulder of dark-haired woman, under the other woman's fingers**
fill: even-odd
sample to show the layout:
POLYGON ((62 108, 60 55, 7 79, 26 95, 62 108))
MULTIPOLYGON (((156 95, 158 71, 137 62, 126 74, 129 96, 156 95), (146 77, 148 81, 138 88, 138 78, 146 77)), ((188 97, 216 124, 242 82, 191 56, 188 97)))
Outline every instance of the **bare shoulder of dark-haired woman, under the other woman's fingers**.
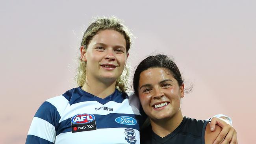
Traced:
POLYGON ((210 122, 207 124, 205 128, 204 141, 205 144, 213 144, 214 140, 218 137, 221 132, 221 127, 215 126, 215 130, 212 132, 210 129, 210 122))

